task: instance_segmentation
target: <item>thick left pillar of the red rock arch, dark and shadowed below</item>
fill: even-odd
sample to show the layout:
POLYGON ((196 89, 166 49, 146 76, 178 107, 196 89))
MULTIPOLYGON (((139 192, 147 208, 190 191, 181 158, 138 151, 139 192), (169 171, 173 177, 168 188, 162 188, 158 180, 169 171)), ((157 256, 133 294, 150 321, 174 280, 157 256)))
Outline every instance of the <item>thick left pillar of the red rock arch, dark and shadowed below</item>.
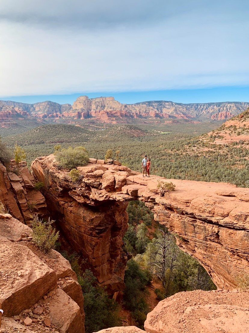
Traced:
POLYGON ((84 185, 80 187, 72 183, 68 172, 57 169, 53 155, 32 164, 35 176, 45 184, 48 210, 54 213, 60 235, 87 259, 98 282, 115 293, 124 289, 127 257, 122 239, 127 229, 127 203, 114 200, 106 193, 110 186, 120 190, 125 177, 133 173, 124 166, 112 167, 114 176, 111 171, 106 172, 105 189, 98 190, 108 170, 104 164, 79 167, 84 174, 84 185), (126 169, 129 173, 119 171, 126 169))

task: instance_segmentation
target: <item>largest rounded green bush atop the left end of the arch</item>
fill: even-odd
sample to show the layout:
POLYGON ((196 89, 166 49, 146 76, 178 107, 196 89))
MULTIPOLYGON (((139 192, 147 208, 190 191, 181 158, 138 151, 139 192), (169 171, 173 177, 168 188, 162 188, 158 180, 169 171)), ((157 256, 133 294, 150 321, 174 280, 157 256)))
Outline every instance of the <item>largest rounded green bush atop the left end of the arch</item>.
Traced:
POLYGON ((70 170, 89 162, 88 151, 82 146, 56 151, 55 157, 60 167, 70 170))

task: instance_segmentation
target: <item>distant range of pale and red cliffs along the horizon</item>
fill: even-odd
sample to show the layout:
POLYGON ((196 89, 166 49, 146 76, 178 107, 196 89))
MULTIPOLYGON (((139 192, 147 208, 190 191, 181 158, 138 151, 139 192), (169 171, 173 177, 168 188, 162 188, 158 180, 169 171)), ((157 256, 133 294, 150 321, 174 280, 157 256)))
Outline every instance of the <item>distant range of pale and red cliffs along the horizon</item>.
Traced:
POLYGON ((80 96, 70 104, 58 104, 51 101, 26 104, 13 101, 0 101, 0 123, 8 127, 12 120, 29 118, 45 120, 47 118, 96 119, 102 122, 119 122, 125 119, 167 119, 170 120, 227 120, 249 107, 249 102, 219 103, 174 103, 171 101, 148 101, 135 104, 122 104, 114 97, 89 99, 80 96))

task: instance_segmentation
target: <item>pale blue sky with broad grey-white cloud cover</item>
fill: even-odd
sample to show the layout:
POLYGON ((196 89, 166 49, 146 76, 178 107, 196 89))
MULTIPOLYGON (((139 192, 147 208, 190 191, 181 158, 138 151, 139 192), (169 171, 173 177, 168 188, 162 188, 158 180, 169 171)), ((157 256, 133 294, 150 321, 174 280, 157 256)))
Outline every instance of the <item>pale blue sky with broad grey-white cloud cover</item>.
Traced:
POLYGON ((249 101, 248 10, 247 0, 2 0, 0 97, 249 101))

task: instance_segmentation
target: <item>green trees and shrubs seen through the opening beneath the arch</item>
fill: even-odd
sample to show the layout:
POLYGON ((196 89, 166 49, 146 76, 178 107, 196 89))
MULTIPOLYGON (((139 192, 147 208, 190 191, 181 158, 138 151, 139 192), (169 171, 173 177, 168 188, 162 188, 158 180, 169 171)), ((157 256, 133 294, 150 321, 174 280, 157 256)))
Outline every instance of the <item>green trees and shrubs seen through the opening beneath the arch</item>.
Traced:
POLYGON ((175 236, 153 220, 153 213, 143 202, 130 202, 127 212, 124 242, 132 258, 124 276, 124 304, 138 327, 143 328, 149 311, 146 286, 152 279, 161 285, 155 289, 158 300, 179 291, 216 289, 206 270, 177 246, 175 236))

